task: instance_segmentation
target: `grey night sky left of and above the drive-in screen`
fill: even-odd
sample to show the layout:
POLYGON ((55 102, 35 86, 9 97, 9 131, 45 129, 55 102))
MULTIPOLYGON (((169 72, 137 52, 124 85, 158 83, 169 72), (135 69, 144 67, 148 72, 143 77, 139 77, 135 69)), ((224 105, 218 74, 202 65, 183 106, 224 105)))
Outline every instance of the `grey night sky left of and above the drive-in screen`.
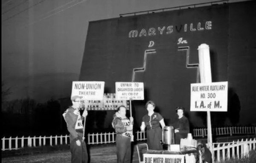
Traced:
POLYGON ((2 0, 2 82, 12 92, 7 100, 70 97, 89 21, 212 1, 2 0))

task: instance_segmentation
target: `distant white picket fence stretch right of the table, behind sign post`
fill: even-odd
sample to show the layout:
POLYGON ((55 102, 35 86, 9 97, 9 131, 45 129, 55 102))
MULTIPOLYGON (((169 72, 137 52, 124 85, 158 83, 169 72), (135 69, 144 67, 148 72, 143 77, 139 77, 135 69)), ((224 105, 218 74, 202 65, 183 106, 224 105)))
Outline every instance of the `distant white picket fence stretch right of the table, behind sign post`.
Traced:
MULTIPOLYGON (((256 126, 217 127, 215 129, 212 129, 212 134, 216 136, 256 134, 256 126)), ((193 129, 193 137, 204 138, 205 136, 207 136, 207 128, 193 129)))

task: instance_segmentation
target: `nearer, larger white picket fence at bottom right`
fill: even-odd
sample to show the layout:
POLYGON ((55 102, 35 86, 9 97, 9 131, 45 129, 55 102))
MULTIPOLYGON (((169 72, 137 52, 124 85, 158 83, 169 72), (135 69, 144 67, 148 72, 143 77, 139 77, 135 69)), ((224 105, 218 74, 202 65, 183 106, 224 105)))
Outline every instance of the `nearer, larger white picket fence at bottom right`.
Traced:
POLYGON ((216 161, 229 160, 230 158, 243 158, 249 151, 256 150, 256 138, 225 143, 213 143, 213 158, 216 161))

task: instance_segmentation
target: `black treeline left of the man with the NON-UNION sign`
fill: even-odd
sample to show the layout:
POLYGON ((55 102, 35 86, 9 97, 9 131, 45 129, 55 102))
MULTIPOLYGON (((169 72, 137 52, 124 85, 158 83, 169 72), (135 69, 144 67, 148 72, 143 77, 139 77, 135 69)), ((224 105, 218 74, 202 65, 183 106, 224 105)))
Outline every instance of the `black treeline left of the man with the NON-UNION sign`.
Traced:
POLYGON ((37 103, 30 98, 2 102, 3 136, 49 135, 60 129, 60 104, 56 100, 37 103))

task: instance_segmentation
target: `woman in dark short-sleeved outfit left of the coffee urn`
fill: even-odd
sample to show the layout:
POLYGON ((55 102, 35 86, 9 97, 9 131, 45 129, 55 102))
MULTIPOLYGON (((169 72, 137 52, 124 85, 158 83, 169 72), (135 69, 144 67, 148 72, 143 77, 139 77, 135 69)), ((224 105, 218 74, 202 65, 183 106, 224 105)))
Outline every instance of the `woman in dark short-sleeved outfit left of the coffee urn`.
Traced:
POLYGON ((148 101, 145 107, 148 110, 148 114, 143 116, 140 129, 144 131, 146 128, 148 149, 163 149, 161 144, 162 129, 165 126, 163 117, 159 113, 154 112, 155 104, 153 101, 148 101))

